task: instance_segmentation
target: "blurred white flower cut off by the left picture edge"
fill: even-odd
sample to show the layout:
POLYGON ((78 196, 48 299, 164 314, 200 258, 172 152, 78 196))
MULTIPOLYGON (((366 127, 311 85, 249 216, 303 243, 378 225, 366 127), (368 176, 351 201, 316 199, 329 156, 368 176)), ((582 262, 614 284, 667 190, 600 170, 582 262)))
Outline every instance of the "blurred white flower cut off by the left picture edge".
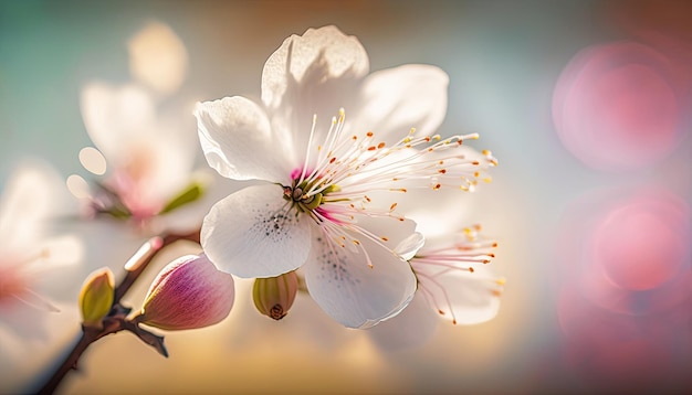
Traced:
POLYGON ((78 322, 69 289, 78 289, 83 248, 55 236, 66 191, 40 162, 19 166, 0 198, 0 393, 15 392, 48 363, 78 322), (59 312, 60 313, 55 313, 59 312))

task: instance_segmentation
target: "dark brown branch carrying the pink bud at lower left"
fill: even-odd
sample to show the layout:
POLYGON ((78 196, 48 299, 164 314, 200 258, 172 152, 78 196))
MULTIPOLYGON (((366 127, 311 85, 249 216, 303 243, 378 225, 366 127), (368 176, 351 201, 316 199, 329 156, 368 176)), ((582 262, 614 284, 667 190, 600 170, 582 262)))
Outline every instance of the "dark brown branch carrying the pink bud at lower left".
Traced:
POLYGON ((180 239, 199 243, 199 229, 188 234, 168 234, 165 236, 153 237, 147 241, 139 248, 139 250, 135 253, 135 255, 133 255, 133 257, 125 264, 127 274, 120 284, 115 288, 113 309, 111 310, 111 313, 104 318, 103 328, 82 327, 80 340, 74 344, 65 360, 57 366, 49 381, 41 387, 41 389, 38 391, 38 394, 52 394, 55 392, 67 373, 72 370, 76 370, 80 357, 92 343, 105 335, 116 333, 122 330, 128 330, 135 333, 147 344, 154 346, 159 353, 167 356, 162 338, 138 328, 135 322, 129 322, 126 316, 129 313, 130 309, 123 307, 120 305, 120 299, 125 296, 125 293, 127 293, 135 281, 137 281, 139 275, 141 275, 141 273, 147 268, 154 257, 166 246, 169 246, 180 239))

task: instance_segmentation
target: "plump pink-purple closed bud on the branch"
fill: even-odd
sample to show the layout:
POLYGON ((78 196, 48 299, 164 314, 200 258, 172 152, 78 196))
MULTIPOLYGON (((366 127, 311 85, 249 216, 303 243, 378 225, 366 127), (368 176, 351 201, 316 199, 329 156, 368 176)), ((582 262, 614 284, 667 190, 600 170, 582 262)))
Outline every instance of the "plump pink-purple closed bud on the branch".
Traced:
POLYGON ((182 256, 158 274, 138 321, 166 330, 209 327, 228 317, 234 296, 233 277, 205 254, 182 256))

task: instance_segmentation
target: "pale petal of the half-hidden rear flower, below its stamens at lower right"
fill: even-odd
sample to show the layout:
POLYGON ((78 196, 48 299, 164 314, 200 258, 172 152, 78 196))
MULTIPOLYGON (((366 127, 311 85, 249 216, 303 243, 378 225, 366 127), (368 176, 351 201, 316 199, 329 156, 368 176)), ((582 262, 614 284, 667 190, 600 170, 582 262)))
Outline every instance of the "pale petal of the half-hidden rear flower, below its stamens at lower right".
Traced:
MULTIPOLYGON (((474 273, 452 270, 436 276, 437 284, 421 278, 420 287, 430 291, 440 303, 449 300, 443 310, 451 308, 457 323, 476 324, 493 319, 500 310, 500 286, 484 271, 481 267, 474 273)), ((452 319, 449 311, 442 317, 452 319)))

